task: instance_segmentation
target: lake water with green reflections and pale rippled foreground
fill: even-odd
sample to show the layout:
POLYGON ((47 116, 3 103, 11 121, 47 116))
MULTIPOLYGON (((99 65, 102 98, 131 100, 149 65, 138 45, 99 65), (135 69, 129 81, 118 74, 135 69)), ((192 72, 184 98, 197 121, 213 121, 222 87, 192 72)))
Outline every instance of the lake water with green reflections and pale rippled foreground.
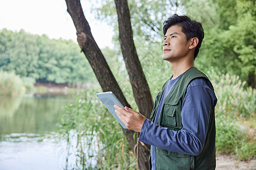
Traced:
POLYGON ((60 137, 58 121, 70 100, 0 97, 0 169, 67 169, 67 142, 60 137))

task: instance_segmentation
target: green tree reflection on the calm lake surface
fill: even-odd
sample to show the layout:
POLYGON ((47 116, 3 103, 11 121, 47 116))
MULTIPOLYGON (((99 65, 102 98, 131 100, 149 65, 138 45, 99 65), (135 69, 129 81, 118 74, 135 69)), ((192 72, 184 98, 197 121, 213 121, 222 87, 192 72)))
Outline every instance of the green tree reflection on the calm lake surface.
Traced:
POLYGON ((0 133, 56 131, 64 97, 16 97, 0 99, 0 133))

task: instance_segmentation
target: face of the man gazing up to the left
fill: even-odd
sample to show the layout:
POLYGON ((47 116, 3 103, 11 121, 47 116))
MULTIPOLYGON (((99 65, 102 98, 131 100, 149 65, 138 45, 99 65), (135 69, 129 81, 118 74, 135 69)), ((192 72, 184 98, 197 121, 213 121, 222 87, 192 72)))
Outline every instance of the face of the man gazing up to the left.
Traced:
POLYGON ((188 42, 180 25, 168 28, 163 41, 163 59, 172 62, 186 57, 189 51, 188 42))

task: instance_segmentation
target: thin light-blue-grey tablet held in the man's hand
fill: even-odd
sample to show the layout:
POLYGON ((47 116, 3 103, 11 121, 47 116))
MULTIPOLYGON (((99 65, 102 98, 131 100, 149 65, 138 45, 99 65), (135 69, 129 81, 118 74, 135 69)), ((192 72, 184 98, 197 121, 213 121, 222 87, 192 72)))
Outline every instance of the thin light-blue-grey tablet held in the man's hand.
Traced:
POLYGON ((114 116, 114 118, 119 122, 119 124, 124 128, 127 129, 125 124, 119 119, 117 116, 117 113, 115 113, 114 105, 119 105, 119 107, 125 109, 121 102, 115 97, 112 91, 109 92, 103 92, 96 94, 98 99, 101 100, 101 102, 105 105, 105 107, 109 110, 109 112, 114 116))

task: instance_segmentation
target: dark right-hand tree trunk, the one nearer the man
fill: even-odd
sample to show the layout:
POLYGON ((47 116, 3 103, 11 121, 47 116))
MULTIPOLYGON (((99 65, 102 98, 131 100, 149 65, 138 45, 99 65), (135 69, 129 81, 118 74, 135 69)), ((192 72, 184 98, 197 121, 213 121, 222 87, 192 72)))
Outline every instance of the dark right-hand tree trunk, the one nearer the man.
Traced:
MULTIPOLYGON (((135 101, 138 105, 139 112, 149 118, 153 108, 153 101, 135 49, 127 0, 115 0, 115 6, 117 8, 119 42, 133 88, 135 101)), ((149 148, 148 145, 146 147, 149 148)), ((139 143, 138 164, 140 169, 148 169, 148 155, 148 150, 139 143)))

